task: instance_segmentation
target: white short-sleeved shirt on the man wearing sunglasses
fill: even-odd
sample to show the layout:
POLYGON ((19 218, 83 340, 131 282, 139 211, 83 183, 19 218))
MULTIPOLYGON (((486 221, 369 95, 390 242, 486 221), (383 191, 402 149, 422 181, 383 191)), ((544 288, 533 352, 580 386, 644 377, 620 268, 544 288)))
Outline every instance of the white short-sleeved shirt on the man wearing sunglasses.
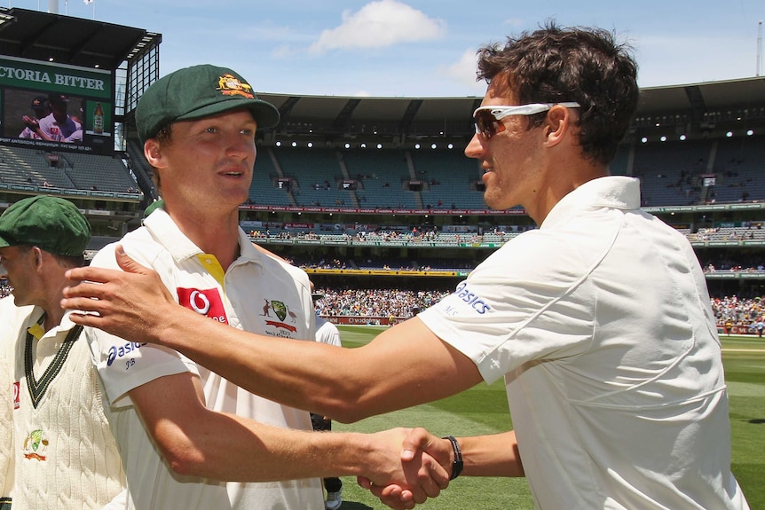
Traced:
POLYGON ((709 303, 638 180, 601 177, 419 317, 505 378, 540 508, 747 508, 709 303))

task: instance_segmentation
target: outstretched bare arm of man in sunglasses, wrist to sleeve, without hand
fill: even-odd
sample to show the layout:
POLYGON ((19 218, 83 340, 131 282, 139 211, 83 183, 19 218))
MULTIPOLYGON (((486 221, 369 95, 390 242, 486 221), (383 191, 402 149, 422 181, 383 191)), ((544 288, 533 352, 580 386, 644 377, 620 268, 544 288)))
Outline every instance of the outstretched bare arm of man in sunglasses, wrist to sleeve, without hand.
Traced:
POLYGON ((481 381, 468 358, 434 336, 422 340, 430 332, 417 322, 389 330, 367 346, 342 349, 258 337, 189 310, 169 318, 151 341, 257 395, 351 422, 450 396, 481 381))

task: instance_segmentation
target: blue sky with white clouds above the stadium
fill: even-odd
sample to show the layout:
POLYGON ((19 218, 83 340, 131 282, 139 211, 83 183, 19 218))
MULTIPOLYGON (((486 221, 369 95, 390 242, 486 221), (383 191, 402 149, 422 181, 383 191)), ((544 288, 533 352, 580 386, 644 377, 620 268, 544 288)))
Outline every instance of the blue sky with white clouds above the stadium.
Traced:
MULTIPOLYGON (((48 9, 48 0, 0 4, 48 9)), ((59 13, 162 34, 161 75, 211 63, 268 93, 480 97, 478 46, 548 19, 630 42, 642 87, 753 77, 765 2, 59 0, 59 13)))

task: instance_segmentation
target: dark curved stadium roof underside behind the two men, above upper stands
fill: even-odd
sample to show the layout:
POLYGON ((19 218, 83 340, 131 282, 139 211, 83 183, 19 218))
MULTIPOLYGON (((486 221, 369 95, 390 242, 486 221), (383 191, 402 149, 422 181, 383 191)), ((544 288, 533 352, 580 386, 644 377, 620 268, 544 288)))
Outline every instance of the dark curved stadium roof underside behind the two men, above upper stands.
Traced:
MULTIPOLYGON (((280 110, 275 137, 470 137, 482 98, 351 98, 260 94, 280 110)), ((716 136, 745 122, 765 127, 765 77, 641 90, 632 132, 716 136)))

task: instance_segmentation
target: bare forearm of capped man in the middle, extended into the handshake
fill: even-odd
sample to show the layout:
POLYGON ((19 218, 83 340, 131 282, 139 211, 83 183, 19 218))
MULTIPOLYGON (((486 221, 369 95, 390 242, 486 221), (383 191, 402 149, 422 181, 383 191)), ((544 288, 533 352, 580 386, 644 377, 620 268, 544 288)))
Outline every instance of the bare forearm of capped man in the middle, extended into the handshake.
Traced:
MULTIPOLYGON (((203 412, 199 425, 185 428, 186 440, 159 443, 170 467, 182 475, 221 481, 273 482, 327 476, 364 476, 375 484, 419 483, 418 469, 402 465, 400 445, 408 430, 398 428, 372 435, 322 433, 277 428, 240 416, 203 412), (178 443, 182 443, 181 446, 178 443), (183 444, 185 443, 185 444, 183 444)), ((177 436, 176 436, 177 437, 177 436)), ((426 472, 446 486, 448 475, 435 460, 424 460, 426 472), (432 474, 432 475, 431 475, 432 474)))

